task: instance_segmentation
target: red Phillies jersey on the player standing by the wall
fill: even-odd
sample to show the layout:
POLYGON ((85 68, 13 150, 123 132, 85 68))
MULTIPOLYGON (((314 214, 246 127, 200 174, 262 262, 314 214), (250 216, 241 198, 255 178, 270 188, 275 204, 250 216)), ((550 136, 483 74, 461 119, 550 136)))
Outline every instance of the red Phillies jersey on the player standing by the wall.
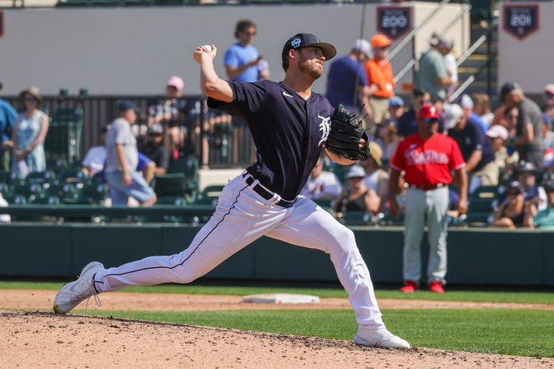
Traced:
POLYGON ((406 172, 406 182, 413 186, 452 183, 452 170, 465 167, 460 147, 454 139, 440 133, 423 141, 412 134, 398 144, 389 166, 406 172))

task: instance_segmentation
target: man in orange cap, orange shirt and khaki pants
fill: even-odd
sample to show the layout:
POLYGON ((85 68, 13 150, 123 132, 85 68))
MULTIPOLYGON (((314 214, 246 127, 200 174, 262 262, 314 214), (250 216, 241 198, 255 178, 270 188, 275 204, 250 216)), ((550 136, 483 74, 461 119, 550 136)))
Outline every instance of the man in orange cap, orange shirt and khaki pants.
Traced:
POLYGON ((388 46, 393 42, 385 35, 375 35, 371 37, 371 48, 373 48, 373 58, 365 64, 366 75, 368 77, 368 95, 369 105, 373 110, 372 122, 379 124, 385 118, 390 118, 388 114, 388 100, 394 95, 394 75, 391 63, 386 60, 388 55, 388 46))

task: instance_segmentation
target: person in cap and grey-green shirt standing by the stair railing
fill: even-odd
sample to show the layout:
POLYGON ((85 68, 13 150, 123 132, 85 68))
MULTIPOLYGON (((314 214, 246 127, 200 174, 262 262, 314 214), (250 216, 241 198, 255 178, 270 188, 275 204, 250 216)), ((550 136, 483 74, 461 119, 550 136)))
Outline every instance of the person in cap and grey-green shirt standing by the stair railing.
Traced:
POLYGON ((437 106, 436 102, 445 101, 447 87, 454 84, 454 81, 448 76, 444 60, 444 56, 449 52, 448 45, 451 39, 443 35, 435 36, 429 41, 431 48, 420 59, 415 84, 418 89, 428 91, 431 102, 437 106))

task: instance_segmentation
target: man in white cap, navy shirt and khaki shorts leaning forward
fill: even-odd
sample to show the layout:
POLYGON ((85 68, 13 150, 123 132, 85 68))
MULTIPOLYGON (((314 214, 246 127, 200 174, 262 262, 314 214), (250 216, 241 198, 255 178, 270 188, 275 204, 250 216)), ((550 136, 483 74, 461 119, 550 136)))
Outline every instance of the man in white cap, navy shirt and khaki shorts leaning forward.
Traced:
POLYGON ((445 105, 445 126, 448 136, 458 143, 466 163, 465 171, 471 178, 469 193, 480 186, 497 186, 499 168, 479 123, 467 119, 459 105, 451 104, 445 105))

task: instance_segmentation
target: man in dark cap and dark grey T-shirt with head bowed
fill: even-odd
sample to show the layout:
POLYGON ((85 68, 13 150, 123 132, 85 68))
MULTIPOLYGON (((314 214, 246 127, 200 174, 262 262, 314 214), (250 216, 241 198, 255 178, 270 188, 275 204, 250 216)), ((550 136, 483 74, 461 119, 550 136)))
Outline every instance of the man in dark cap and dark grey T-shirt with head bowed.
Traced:
POLYGON ((515 136, 508 138, 508 144, 517 150, 519 160, 542 168, 542 117, 538 105, 526 98, 519 84, 514 82, 502 86, 501 98, 508 109, 516 107, 519 110, 515 136))

